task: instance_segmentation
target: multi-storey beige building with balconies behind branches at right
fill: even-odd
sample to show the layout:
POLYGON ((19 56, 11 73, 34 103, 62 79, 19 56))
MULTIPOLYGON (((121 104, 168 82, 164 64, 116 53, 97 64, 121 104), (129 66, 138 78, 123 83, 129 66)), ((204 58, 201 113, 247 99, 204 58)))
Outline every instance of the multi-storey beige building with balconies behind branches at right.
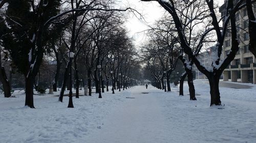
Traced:
MULTIPOLYGON (((225 1, 226 2, 226 1, 225 1)), ((235 2, 235 1, 234 1, 235 2)), ((220 13, 225 13, 225 4, 221 6, 220 13)), ((253 4, 253 10, 256 12, 256 3, 253 4)), ((223 80, 237 82, 249 82, 256 84, 256 59, 249 51, 249 33, 248 33, 248 16, 246 7, 236 13, 237 31, 239 34, 239 51, 236 57, 223 72, 223 80)), ((231 48, 231 34, 227 33, 224 41, 223 57, 231 48)))

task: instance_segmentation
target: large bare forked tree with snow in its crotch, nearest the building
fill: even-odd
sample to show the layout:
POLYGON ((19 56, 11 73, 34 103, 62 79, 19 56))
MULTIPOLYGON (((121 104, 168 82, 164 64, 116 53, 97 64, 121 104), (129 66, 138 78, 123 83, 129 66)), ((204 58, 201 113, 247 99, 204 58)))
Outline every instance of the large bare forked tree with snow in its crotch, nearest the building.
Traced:
MULTIPOLYGON (((142 0, 142 1, 150 1, 150 0, 142 0)), ((206 0, 205 3, 208 6, 208 11, 205 11, 209 13, 211 16, 211 27, 207 28, 205 33, 202 35, 201 39, 197 43, 197 49, 196 51, 200 51, 202 47, 203 39, 205 38, 205 35, 209 33, 210 31, 215 31, 217 36, 217 44, 216 44, 216 52, 215 52, 215 59, 214 62, 211 64, 211 68, 207 69, 204 66, 201 65, 200 61, 197 59, 197 56, 193 53, 193 49, 191 46, 189 46, 187 37, 184 35, 183 32, 183 24, 182 21, 179 18, 179 15, 177 13, 177 7, 176 7, 176 1, 157 1, 168 13, 170 13, 173 17, 176 30, 178 32, 179 40, 182 49, 184 52, 188 55, 188 58, 191 59, 197 66, 198 70, 200 70, 203 74, 205 74, 209 80, 210 84, 210 95, 211 95, 211 101, 210 105, 221 105, 220 100, 220 92, 219 92, 219 79, 220 76, 228 64, 234 59, 234 56, 236 55, 236 52, 239 50, 238 47, 238 40, 237 40, 237 30, 236 30, 236 20, 235 20, 235 13, 238 9, 238 7, 241 5, 242 1, 239 1, 235 6, 233 6, 232 1, 227 2, 227 6, 225 9, 225 17, 224 17, 224 23, 223 26, 220 27, 219 22, 220 20, 217 19, 217 15, 215 13, 215 7, 214 7, 214 1, 208 1, 206 0), (225 34, 227 31, 227 25, 230 21, 231 25, 231 39, 232 39, 232 46, 230 52, 227 54, 226 58, 221 60, 221 54, 222 54, 222 48, 223 48, 223 42, 225 38, 225 34)), ((184 3, 194 3, 194 1, 184 1, 184 3)))

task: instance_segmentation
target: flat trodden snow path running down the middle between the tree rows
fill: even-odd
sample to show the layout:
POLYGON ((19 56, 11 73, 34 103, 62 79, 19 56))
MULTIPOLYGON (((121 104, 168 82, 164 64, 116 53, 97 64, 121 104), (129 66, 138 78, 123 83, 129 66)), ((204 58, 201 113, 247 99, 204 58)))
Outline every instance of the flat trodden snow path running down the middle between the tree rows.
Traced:
POLYGON ((159 97, 153 87, 134 87, 131 97, 104 120, 101 129, 88 138, 89 142, 170 142, 159 97))

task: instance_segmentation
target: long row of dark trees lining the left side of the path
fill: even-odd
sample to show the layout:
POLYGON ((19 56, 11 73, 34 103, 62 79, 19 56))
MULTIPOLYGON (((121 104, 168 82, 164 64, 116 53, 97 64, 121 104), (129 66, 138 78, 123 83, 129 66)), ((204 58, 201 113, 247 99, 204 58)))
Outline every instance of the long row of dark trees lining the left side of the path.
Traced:
MULTIPOLYGON (((132 40, 122 26, 122 11, 131 9, 116 9, 114 5, 112 0, 1 1, 0 44, 8 51, 13 68, 25 77, 25 105, 34 108, 33 89, 38 87, 41 63, 56 65, 56 70, 49 70, 55 75, 51 84, 54 91, 60 71, 64 72, 59 101, 68 87, 68 107, 73 107, 72 79, 76 98, 82 83, 88 85, 92 95, 92 80, 98 93, 104 92, 104 80, 107 91, 110 78, 114 88, 115 82, 120 84, 119 73, 126 85, 131 83, 139 63, 134 58, 132 40)), ((10 84, 6 76, 2 77, 5 97, 9 97, 10 84)))

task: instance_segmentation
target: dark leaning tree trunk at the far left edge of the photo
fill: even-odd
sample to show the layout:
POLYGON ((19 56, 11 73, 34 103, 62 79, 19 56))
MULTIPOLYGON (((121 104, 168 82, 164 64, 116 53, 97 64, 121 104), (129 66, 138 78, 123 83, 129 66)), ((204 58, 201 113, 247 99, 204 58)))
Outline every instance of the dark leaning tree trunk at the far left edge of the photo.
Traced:
POLYGON ((0 81, 3 84, 5 97, 11 97, 11 86, 5 73, 5 67, 1 67, 0 69, 0 81))

